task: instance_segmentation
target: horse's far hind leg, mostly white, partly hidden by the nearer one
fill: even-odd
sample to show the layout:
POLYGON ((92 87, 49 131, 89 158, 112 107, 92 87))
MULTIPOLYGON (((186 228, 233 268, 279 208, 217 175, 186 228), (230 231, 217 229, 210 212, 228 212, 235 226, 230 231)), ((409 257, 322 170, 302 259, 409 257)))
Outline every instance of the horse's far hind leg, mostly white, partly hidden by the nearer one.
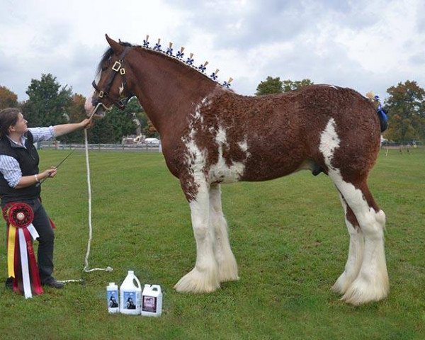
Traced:
POLYGON ((360 271, 361 263, 363 261, 365 239, 353 210, 348 207, 346 200, 343 196, 341 196, 341 193, 339 198, 341 199, 341 204, 344 208, 345 222, 348 234, 350 235, 350 245, 348 247, 348 259, 344 272, 341 276, 339 276, 338 280, 336 280, 335 284, 332 286, 332 290, 336 293, 344 294, 351 283, 353 283, 353 280, 356 280, 358 272, 360 271))

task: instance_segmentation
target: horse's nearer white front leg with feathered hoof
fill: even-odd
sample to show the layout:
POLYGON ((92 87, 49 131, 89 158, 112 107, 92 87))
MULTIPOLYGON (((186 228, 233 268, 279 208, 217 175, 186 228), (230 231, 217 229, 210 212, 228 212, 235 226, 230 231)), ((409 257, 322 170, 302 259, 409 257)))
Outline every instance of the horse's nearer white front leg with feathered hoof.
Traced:
MULTIPOLYGON (((210 223, 210 188, 197 183, 195 198, 186 193, 191 207, 193 234, 196 239, 196 265, 174 286, 178 292, 208 293, 220 288, 214 256, 214 230, 210 223)), ((185 185, 182 183, 183 191, 185 185)), ((193 187, 191 187, 193 188, 193 187)))

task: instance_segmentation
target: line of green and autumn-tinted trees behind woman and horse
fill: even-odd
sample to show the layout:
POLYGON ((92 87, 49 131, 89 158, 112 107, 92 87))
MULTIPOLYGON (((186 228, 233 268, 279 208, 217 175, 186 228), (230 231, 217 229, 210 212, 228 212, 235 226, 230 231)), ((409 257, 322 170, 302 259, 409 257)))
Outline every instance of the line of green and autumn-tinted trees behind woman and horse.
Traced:
MULTIPOLYGON (((280 77, 267 77, 256 88, 256 96, 280 94, 295 91, 303 86, 314 84, 310 79, 292 81, 280 77)), ((18 102, 18 96, 0 85, 0 110, 18 107, 28 120, 29 127, 75 123, 86 118, 81 94, 73 94, 72 88, 62 86, 52 74, 42 74, 41 79, 32 79, 26 90, 28 100, 18 102)), ((394 142, 425 141, 425 90, 416 81, 399 82, 387 89, 389 95, 382 103, 388 113, 388 130, 383 137, 394 142)), ((140 106, 137 98, 132 98, 123 111, 113 108, 106 118, 96 120, 89 130, 90 143, 117 143, 124 135, 134 135, 137 126, 134 115, 140 121, 142 133, 146 137, 158 137, 152 123, 140 106)), ((63 142, 79 143, 84 140, 83 132, 77 131, 60 137, 63 142)))

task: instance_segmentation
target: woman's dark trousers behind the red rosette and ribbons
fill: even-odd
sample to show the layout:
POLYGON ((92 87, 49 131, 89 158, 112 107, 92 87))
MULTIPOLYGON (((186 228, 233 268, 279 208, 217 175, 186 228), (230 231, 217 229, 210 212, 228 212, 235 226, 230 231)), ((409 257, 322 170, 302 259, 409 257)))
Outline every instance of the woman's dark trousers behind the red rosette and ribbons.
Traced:
MULTIPOLYGON (((19 202, 27 203, 31 208, 33 208, 33 225, 40 235, 37 239, 38 271, 40 273, 41 283, 46 283, 52 278, 53 273, 53 248, 55 244, 55 233, 53 232, 52 225, 50 225, 47 212, 38 198, 31 200, 19 200, 19 202)), ((7 203, 1 201, 1 208, 4 208, 7 203)))

